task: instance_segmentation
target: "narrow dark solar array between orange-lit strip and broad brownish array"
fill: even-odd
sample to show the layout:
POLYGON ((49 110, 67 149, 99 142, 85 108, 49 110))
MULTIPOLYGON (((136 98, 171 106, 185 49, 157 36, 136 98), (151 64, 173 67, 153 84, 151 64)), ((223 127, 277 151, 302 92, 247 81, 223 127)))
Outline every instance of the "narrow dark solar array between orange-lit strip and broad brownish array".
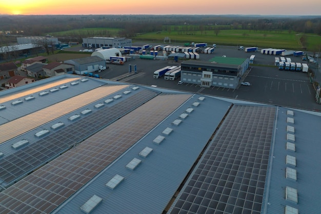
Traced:
POLYGON ((18 177, 66 151, 69 147, 81 142, 95 131, 102 129, 155 95, 156 93, 153 91, 143 90, 110 108, 98 110, 90 117, 79 119, 64 129, 1 159, 0 179, 9 184, 16 181, 18 177))

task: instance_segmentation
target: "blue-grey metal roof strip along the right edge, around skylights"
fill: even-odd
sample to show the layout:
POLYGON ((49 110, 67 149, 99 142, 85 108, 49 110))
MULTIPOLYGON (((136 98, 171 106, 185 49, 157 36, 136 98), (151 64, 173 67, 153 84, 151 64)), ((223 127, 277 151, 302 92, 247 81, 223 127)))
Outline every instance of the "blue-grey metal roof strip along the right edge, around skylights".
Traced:
POLYGON ((321 209, 321 118, 309 113, 292 110, 288 115, 286 108, 279 107, 272 165, 269 166, 270 188, 266 189, 263 213, 284 213, 285 207, 298 209, 299 213, 319 213, 321 209), (287 118, 295 123, 287 123, 287 118), (287 125, 295 127, 295 141, 287 141, 287 125), (295 151, 287 149, 287 142, 295 144, 295 151), (296 166, 286 164, 286 156, 296 158, 296 166), (286 168, 296 169, 297 180, 286 178, 286 168), (297 189, 298 202, 286 200, 286 187, 297 189))

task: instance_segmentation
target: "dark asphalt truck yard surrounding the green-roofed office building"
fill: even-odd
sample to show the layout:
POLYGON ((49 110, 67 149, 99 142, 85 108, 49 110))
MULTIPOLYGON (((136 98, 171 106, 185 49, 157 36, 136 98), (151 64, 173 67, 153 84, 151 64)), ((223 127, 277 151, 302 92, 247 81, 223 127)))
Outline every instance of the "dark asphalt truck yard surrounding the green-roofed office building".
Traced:
MULTIPOLYGON (((139 46, 143 44, 134 45, 139 46)), ((200 60, 208 61, 212 57, 222 57, 223 55, 236 58, 246 58, 255 55, 254 65, 259 66, 253 66, 244 79, 244 81, 250 82, 251 85, 239 85, 237 89, 220 87, 203 88, 197 84, 178 84, 179 78, 174 81, 165 80, 164 78, 153 78, 153 72, 157 69, 165 66, 180 65, 180 61, 175 62, 173 60, 134 58, 123 66, 108 65, 109 69, 99 73, 99 75, 102 78, 134 84, 157 85, 160 88, 321 111, 321 105, 315 102, 315 92, 310 83, 308 73, 279 71, 277 67, 273 66, 274 55, 264 55, 259 51, 246 53, 238 51, 236 47, 218 46, 213 54, 200 54, 200 60), (137 66, 137 74, 130 74, 128 72, 129 64, 137 66)), ((300 57, 287 57, 290 57, 293 62, 304 62, 300 57)))

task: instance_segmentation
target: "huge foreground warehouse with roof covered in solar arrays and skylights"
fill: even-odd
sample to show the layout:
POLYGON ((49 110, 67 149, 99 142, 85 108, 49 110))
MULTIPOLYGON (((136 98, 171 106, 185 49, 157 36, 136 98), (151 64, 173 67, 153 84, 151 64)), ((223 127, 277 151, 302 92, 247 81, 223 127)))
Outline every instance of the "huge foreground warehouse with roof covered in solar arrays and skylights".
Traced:
POLYGON ((315 112, 69 74, 0 103, 0 213, 319 212, 315 112))

